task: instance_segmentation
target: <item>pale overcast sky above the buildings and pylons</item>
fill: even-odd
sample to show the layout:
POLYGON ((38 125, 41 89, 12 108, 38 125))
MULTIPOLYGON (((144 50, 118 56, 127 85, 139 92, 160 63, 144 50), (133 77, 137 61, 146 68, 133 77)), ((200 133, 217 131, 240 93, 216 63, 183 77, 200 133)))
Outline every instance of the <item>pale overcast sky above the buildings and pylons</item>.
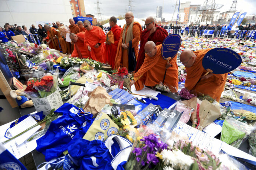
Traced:
MULTIPOLYGON (((96 0, 84 0, 86 14, 93 14, 97 18, 96 0)), ((100 12, 102 19, 110 18, 111 16, 119 16, 125 14, 125 9, 128 9, 128 0, 99 0, 100 12)), ((179 0, 178 0, 179 1, 179 0)), ((181 0, 185 3, 189 0, 181 0)), ((191 4, 203 4, 204 0, 190 0, 191 4)), ((221 12, 228 11, 233 0, 215 0, 216 4, 223 4, 221 12)), ((156 7, 163 6, 163 17, 166 20, 171 20, 175 8, 176 0, 133 0, 132 5, 134 16, 136 18, 146 18, 147 16, 156 16, 156 7)), ((237 0, 237 10, 247 12, 247 15, 256 14, 256 0, 237 0)), ((177 10, 176 10, 177 11, 177 10)), ((83 13, 83 11, 82 11, 83 13)), ((177 17, 175 12, 174 18, 177 17)), ((84 14, 84 13, 83 13, 84 14)))

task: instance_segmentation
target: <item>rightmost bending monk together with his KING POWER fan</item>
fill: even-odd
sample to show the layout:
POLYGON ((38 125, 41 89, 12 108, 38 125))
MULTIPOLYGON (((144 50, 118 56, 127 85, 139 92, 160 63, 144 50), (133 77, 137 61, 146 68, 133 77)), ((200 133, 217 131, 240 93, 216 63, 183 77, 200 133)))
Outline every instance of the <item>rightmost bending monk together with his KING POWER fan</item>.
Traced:
POLYGON ((220 100, 228 73, 242 62, 238 53, 227 48, 184 50, 179 59, 187 72, 185 88, 197 95, 220 100))

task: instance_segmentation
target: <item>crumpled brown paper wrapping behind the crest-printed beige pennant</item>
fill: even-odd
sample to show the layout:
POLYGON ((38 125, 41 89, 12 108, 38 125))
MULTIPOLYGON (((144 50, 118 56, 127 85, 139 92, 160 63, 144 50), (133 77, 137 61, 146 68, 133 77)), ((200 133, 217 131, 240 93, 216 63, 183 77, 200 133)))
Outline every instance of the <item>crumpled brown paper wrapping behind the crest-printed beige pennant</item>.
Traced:
POLYGON ((92 91, 83 110, 90 112, 95 118, 106 104, 112 106, 109 94, 103 87, 99 86, 92 91))

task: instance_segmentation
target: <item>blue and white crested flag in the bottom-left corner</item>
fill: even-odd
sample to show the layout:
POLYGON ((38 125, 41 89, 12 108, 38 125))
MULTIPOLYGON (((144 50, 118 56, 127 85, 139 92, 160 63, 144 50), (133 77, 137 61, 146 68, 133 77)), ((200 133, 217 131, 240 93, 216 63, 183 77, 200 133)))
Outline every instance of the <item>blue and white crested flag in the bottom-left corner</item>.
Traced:
POLYGON ((26 170, 25 166, 0 143, 0 169, 26 170))

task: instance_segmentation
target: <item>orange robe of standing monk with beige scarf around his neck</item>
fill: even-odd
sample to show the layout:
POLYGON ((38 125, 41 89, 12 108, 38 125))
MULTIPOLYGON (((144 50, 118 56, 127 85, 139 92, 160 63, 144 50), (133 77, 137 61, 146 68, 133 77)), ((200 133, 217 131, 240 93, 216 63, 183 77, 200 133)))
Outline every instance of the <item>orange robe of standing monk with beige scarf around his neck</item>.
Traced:
MULTIPOLYGON (((127 26, 126 30, 124 30, 124 27, 125 25, 122 28, 120 40, 117 46, 117 55, 115 56, 115 67, 114 67, 115 69, 118 69, 119 66, 126 67, 127 69, 129 68, 128 49, 122 48, 122 41, 123 41, 122 35, 125 32, 125 37, 126 37, 129 25, 127 26)), ((133 34, 132 48, 134 48, 136 60, 138 58, 138 53, 139 53, 139 40, 141 40, 141 33, 142 33, 142 28, 140 23, 134 22, 132 27, 132 34, 133 34)), ((129 42, 125 41, 124 44, 129 44, 129 42)))

